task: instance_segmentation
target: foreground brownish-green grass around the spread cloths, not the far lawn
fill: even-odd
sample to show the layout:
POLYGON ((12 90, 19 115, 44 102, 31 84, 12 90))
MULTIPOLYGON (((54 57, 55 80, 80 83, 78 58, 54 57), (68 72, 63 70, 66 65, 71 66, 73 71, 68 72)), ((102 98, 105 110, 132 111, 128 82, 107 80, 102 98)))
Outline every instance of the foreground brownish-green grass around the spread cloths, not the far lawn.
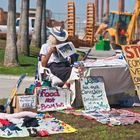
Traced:
MULTIPOLYGON (((0 100, 1 103, 4 100, 0 100)), ((140 107, 129 108, 129 110, 140 112, 140 107)), ((11 140, 139 140, 140 124, 127 126, 109 127, 95 120, 87 120, 82 116, 67 115, 58 112, 52 112, 54 117, 62 120, 77 129, 75 133, 54 134, 48 137, 26 137, 10 138, 11 140)), ((3 138, 0 138, 3 140, 3 138)))

